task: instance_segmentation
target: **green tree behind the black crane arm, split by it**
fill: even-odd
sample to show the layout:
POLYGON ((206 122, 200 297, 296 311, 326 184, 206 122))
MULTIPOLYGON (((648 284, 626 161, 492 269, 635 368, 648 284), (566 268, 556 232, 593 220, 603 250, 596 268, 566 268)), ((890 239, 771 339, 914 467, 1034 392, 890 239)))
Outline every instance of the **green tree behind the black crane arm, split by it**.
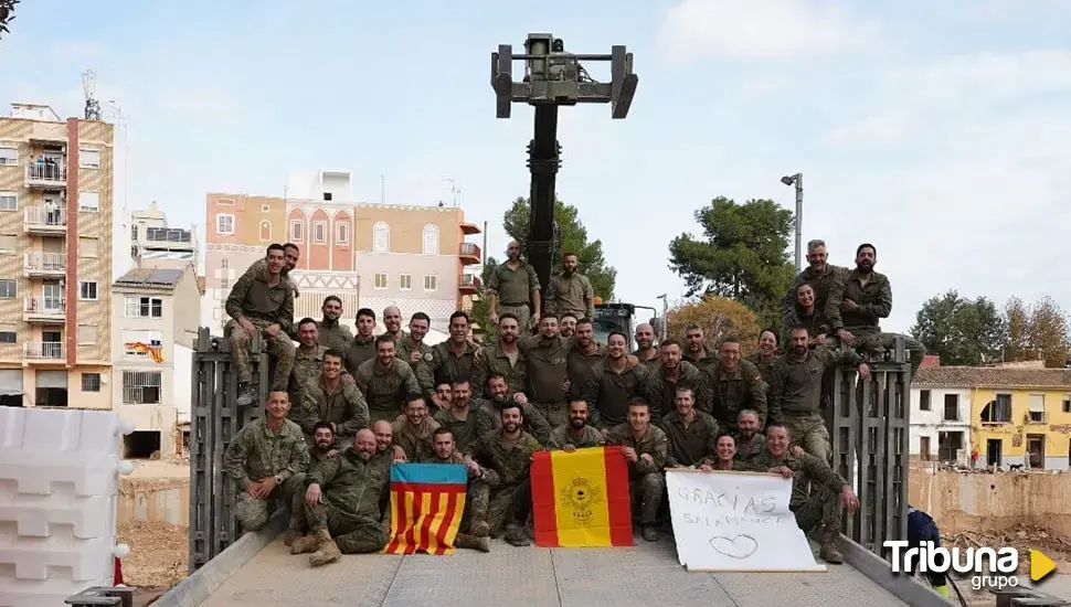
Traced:
MULTIPOLYGON (((518 198, 506 211, 502 223, 511 239, 521 244, 521 251, 528 248, 528 217, 531 204, 528 199, 518 198)), ((617 270, 606 265, 603 258, 602 241, 588 241, 587 228, 580 222, 576 207, 554 200, 554 223, 559 226, 558 246, 554 248, 554 259, 551 274, 562 267, 565 253, 575 253, 580 258, 580 269, 592 281, 595 295, 608 301, 614 297, 614 285, 617 281, 617 270)), ((547 289, 547 285, 541 285, 547 289)))

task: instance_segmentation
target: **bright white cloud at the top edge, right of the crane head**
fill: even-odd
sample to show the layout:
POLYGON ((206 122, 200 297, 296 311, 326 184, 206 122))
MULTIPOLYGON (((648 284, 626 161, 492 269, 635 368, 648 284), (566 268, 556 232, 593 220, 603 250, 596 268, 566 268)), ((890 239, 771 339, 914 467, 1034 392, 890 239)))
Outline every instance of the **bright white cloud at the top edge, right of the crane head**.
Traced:
POLYGON ((704 56, 785 58, 844 51, 872 40, 878 25, 805 0, 681 0, 658 33, 678 61, 704 56))

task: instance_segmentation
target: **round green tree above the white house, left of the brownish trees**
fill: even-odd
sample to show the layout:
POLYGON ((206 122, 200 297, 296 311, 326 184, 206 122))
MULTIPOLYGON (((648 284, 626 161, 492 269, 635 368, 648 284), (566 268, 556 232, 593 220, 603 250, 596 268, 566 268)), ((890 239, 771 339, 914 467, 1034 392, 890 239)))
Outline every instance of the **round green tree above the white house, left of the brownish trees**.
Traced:
POLYGON ((911 334, 942 364, 976 366, 1000 360, 1007 340, 1004 318, 985 297, 971 300, 955 290, 934 296, 915 316, 911 334))

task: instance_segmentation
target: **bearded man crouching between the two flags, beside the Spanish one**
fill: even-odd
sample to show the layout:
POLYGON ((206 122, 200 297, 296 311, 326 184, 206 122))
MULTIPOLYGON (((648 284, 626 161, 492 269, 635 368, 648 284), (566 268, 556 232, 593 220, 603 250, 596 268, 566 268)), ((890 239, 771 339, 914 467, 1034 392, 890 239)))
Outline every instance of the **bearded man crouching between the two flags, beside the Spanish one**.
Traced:
POLYGON ((536 437, 522 429, 523 418, 517 404, 501 409, 501 428, 476 441, 466 465, 478 466, 476 478, 490 487, 487 522, 491 537, 506 531, 506 541, 515 546, 531 542, 523 530, 532 508, 532 483, 529 471, 532 455, 543 449, 536 437))

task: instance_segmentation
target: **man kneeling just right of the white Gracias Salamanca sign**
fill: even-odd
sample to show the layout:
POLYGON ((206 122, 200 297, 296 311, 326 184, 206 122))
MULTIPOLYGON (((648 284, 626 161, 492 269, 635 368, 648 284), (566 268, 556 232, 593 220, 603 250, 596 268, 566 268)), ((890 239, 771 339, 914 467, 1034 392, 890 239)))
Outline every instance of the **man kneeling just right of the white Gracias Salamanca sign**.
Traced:
POLYGON ((792 479, 788 509, 796 515, 796 524, 804 533, 810 533, 821 524, 824 529, 819 556, 830 564, 844 563, 837 545, 840 537, 841 507, 855 512, 859 509, 859 498, 826 460, 810 454, 794 454, 788 448, 788 439, 789 430, 784 424, 767 424, 766 450, 755 458, 752 467, 792 479))

